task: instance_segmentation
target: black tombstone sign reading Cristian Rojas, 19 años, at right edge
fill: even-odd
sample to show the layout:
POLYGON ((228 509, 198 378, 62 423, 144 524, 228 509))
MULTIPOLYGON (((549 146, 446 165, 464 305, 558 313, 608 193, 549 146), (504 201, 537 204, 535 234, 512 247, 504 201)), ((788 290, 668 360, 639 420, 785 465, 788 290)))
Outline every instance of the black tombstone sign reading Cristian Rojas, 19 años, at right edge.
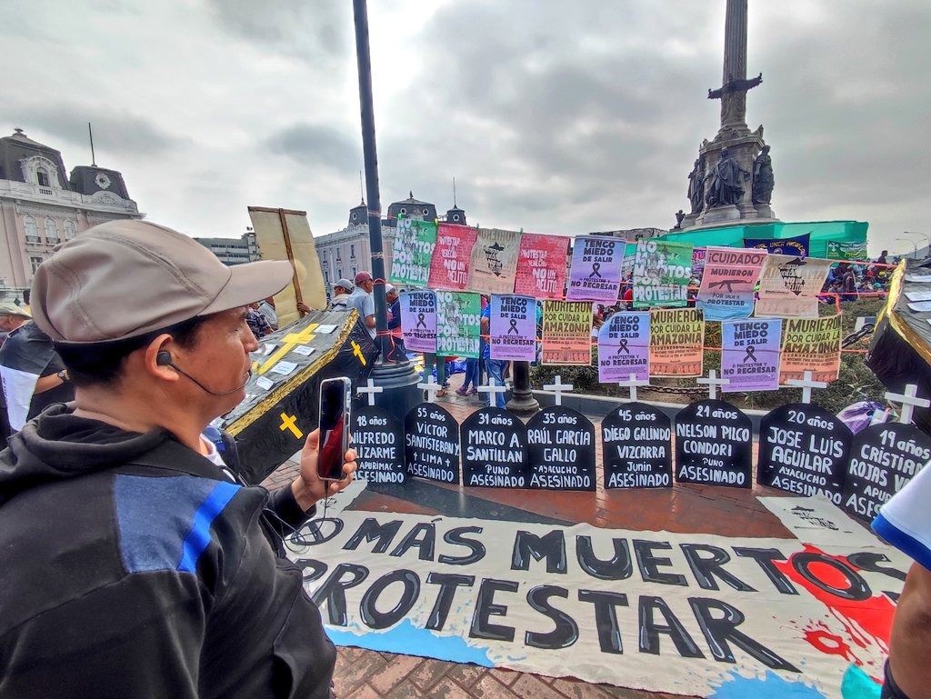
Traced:
POLYGON ((911 424, 873 424, 857 432, 851 440, 843 509, 856 518, 874 518, 929 459, 931 437, 911 424))

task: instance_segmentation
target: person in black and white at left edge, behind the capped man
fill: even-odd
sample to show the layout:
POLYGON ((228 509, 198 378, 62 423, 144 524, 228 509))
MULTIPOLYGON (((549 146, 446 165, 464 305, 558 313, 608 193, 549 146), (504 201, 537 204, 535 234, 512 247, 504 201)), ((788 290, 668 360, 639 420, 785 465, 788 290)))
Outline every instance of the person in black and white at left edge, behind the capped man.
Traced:
POLYGON ((21 430, 47 406, 74 399, 74 386, 61 356, 28 313, 20 308, 10 316, 7 327, 11 331, 0 346, 0 379, 10 432, 21 430))

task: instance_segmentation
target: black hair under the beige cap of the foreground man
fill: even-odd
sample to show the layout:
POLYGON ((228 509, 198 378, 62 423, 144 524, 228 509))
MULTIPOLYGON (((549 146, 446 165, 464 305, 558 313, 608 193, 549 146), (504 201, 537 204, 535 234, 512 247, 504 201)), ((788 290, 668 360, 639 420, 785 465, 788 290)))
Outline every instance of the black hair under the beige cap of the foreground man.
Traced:
POLYGON ((211 317, 196 316, 168 328, 112 343, 55 343, 55 349, 75 386, 113 385, 122 374, 126 358, 133 352, 166 333, 182 347, 190 347, 196 342, 197 331, 211 317))

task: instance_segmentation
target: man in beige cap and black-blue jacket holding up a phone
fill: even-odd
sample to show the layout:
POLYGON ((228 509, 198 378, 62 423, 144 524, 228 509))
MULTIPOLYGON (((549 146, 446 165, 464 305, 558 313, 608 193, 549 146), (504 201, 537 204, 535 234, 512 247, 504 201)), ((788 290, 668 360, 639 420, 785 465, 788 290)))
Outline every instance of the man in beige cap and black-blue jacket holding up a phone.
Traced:
POLYGON ((336 652, 282 537, 352 480, 356 453, 321 481, 314 431, 270 496, 237 476, 234 445, 224 462, 202 437, 245 396, 247 304, 291 275, 142 221, 94 226, 38 267, 34 323, 76 391, 0 452, 0 696, 331 695, 336 652))

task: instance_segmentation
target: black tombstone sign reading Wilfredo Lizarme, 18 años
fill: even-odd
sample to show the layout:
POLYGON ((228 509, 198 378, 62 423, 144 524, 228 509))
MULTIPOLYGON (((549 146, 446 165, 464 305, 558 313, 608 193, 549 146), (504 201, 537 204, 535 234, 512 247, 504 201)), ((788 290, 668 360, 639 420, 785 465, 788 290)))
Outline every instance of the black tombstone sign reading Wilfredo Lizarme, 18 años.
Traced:
POLYGON ((358 453, 356 477, 370 483, 404 483, 404 432, 387 410, 364 406, 353 410, 352 444, 358 453))

